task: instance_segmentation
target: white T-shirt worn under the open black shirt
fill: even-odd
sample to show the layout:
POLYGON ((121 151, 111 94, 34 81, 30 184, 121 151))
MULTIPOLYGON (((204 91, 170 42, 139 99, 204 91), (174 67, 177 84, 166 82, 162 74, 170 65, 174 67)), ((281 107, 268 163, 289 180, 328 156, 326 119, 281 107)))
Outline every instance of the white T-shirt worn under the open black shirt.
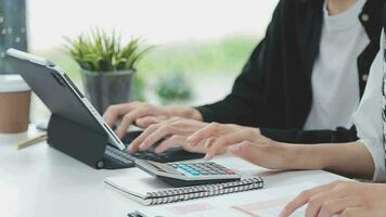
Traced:
POLYGON ((351 128, 360 101, 357 59, 370 39, 358 16, 366 0, 358 0, 336 15, 329 15, 326 2, 320 51, 311 76, 312 105, 305 130, 351 128))

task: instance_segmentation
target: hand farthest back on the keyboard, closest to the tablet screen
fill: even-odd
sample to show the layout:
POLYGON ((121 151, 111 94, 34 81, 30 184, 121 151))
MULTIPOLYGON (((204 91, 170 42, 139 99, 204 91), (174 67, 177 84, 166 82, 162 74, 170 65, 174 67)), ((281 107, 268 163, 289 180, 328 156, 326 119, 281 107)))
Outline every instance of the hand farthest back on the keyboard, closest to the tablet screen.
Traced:
POLYGON ((119 138, 124 138, 127 129, 133 124, 146 128, 152 124, 175 116, 194 119, 202 118, 201 113, 192 107, 162 107, 138 101, 108 106, 103 118, 108 126, 113 126, 118 119, 121 119, 121 124, 117 128, 117 135, 119 138))

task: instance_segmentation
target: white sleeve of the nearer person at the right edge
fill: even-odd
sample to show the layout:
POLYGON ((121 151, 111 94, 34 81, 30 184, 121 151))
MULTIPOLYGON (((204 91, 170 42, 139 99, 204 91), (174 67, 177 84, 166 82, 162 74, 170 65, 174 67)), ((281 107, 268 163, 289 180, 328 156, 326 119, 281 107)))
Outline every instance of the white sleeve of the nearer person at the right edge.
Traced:
MULTIPOLYGON (((353 114, 358 137, 371 153, 375 163, 374 181, 386 182, 385 171, 385 148, 382 104, 386 102, 383 97, 385 36, 381 37, 381 50, 376 55, 371 69, 370 77, 358 111, 353 114)), ((385 131, 386 132, 386 131, 385 131)))

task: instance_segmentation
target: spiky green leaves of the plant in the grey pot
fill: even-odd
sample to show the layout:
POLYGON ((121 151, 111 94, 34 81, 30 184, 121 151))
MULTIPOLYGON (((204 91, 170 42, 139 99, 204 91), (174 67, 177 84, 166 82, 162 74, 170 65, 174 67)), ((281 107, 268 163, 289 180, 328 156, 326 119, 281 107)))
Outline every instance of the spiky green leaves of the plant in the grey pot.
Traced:
POLYGON ((89 35, 80 35, 75 39, 68 37, 66 49, 81 68, 106 73, 134 69, 137 62, 153 47, 141 49, 141 38, 131 38, 121 44, 121 37, 113 31, 95 28, 89 35))

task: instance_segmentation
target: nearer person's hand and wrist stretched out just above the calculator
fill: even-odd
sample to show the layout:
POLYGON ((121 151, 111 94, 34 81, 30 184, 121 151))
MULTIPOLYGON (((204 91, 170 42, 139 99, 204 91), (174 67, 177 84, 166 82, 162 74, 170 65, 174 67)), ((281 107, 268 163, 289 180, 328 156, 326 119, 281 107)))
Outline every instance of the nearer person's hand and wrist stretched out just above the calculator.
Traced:
POLYGON ((196 144, 204 144, 206 159, 228 150, 269 169, 322 169, 325 166, 324 155, 319 154, 322 146, 278 142, 262 136, 258 128, 209 124, 188 139, 189 146, 196 144))

